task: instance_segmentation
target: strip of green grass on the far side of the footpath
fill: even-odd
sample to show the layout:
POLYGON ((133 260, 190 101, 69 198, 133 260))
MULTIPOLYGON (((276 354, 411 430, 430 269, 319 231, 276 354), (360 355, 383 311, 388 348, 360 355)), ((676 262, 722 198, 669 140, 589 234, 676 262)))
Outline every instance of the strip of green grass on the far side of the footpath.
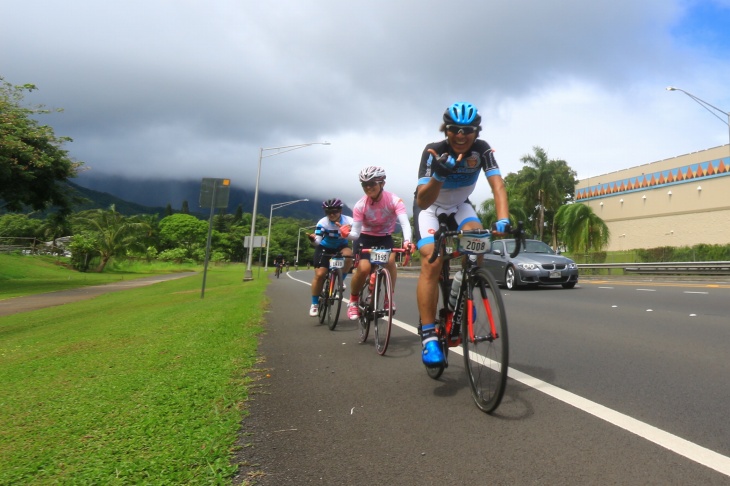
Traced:
POLYGON ((149 275, 200 270, 200 266, 170 263, 113 263, 104 273, 69 269, 67 258, 0 254, 0 300, 132 280, 149 275))

